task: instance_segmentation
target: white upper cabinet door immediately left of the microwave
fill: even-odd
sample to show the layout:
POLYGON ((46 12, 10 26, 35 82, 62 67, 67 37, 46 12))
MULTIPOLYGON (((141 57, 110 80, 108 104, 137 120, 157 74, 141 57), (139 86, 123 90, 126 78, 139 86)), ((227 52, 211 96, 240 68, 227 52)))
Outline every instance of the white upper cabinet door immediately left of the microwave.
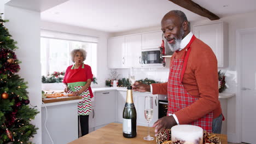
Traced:
POLYGON ((141 34, 125 36, 127 49, 127 66, 132 68, 141 67, 141 34))

